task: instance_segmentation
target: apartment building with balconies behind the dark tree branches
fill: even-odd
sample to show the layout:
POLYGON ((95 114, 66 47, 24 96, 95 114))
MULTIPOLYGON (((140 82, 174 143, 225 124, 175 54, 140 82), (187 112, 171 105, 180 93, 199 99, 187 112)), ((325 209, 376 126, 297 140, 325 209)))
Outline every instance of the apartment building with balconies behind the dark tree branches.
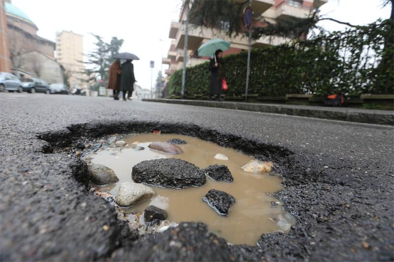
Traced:
MULTIPOLYGON (((311 11, 327 3, 328 0, 252 0, 252 10, 255 15, 262 16, 270 23, 276 23, 279 20, 291 21, 294 18, 305 18, 311 11)), ((194 8, 196 1, 191 0, 190 10, 194 8)), ((183 65, 183 47, 185 41, 185 23, 186 12, 183 5, 180 12, 179 21, 171 22, 168 37, 172 39, 167 57, 163 58, 163 63, 168 64, 165 70, 167 76, 174 71, 182 68, 183 65)), ((264 26, 256 21, 254 27, 264 26)), ((231 42, 230 49, 224 52, 224 55, 237 54, 243 50, 248 50, 248 39, 243 36, 228 37, 223 32, 216 29, 207 29, 198 25, 189 25, 188 29, 188 66, 193 66, 206 61, 208 58, 198 56, 198 47, 206 41, 213 38, 222 38, 231 42)), ((279 36, 261 37, 252 41, 252 48, 263 48, 272 45, 279 45, 288 42, 290 38, 279 36)))

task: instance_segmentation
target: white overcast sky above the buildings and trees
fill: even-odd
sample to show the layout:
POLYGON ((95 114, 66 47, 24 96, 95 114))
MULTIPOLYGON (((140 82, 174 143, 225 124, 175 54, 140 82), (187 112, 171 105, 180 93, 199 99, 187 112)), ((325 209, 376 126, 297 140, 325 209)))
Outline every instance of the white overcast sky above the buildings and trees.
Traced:
MULTIPOLYGON (((153 82, 161 69, 171 40, 171 21, 179 18, 181 0, 12 0, 38 27, 38 35, 55 41, 56 31, 72 30, 84 35, 84 51, 94 48, 95 33, 110 40, 112 36, 125 40, 122 52, 141 58, 134 61, 134 73, 143 88, 151 86, 149 61, 155 61, 153 82)), ((390 9, 381 8, 382 0, 329 0, 321 14, 351 24, 362 25, 378 18, 388 18, 390 9)), ((344 29, 343 25, 324 21, 328 30, 344 29)), ((163 65, 164 69, 167 65, 163 65)))

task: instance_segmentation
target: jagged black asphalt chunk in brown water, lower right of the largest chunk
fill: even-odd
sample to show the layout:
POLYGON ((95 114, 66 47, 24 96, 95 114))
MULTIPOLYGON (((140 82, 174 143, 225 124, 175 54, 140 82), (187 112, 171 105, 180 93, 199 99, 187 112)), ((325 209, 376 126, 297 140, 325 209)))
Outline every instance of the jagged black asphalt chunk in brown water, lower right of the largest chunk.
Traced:
POLYGON ((235 203, 233 196, 216 189, 209 190, 202 200, 208 203, 210 207, 215 209, 215 211, 222 216, 227 216, 229 214, 230 205, 235 203))

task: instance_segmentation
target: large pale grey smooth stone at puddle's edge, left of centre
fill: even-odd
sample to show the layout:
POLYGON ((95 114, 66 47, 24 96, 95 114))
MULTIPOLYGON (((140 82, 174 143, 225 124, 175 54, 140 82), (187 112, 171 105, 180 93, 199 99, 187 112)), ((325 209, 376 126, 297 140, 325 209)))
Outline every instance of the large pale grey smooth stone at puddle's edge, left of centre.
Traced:
POLYGON ((116 204, 122 207, 129 207, 138 202, 144 201, 155 195, 152 188, 142 184, 123 182, 116 196, 116 204))

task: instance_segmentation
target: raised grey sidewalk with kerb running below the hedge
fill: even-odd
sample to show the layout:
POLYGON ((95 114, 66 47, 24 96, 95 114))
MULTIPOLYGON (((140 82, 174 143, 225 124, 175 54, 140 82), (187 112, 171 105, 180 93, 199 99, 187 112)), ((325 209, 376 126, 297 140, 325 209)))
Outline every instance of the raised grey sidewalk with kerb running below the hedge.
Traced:
POLYGON ((217 102, 201 100, 179 100, 179 99, 142 99, 147 102, 160 102, 170 104, 182 104, 191 106, 216 107, 224 109, 236 109, 253 112, 282 114, 289 116, 306 116, 325 118, 331 120, 342 120, 349 122, 360 122, 368 124, 393 125, 394 111, 371 110, 348 107, 316 107, 279 104, 259 104, 245 102, 217 102))

